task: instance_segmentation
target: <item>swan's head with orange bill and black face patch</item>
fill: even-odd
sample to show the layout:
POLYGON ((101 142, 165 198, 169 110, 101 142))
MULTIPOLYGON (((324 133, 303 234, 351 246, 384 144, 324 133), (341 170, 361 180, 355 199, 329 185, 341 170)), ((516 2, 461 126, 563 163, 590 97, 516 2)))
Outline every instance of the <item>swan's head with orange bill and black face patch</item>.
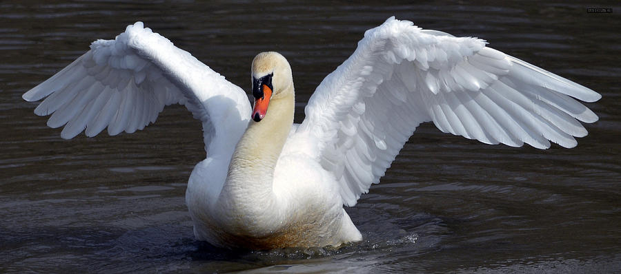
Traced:
POLYGON ((287 59, 278 52, 261 52, 252 67, 255 105, 252 118, 259 122, 267 114, 271 100, 293 93, 293 76, 287 59))

